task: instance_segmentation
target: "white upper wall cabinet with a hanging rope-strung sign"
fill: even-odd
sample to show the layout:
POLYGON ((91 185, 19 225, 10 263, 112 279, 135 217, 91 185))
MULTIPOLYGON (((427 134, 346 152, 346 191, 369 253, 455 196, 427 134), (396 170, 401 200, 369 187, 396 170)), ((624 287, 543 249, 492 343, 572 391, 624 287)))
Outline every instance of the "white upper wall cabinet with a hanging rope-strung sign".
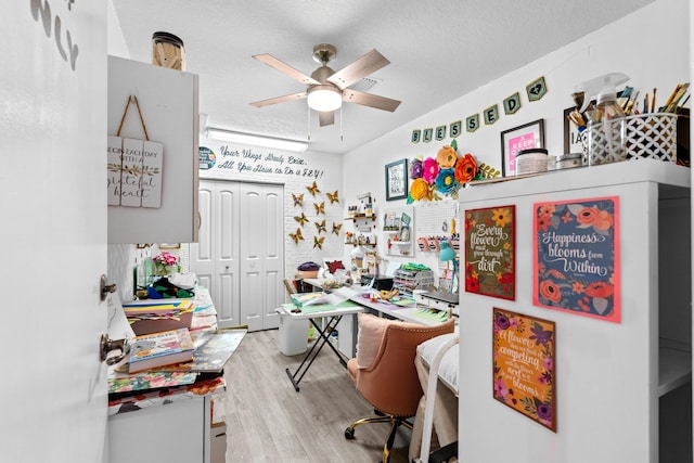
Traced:
MULTIPOLYGON (((130 95, 138 98, 149 139, 164 145, 162 206, 108 206, 108 243, 196 242, 197 76, 108 56, 107 134, 117 133, 130 95)), ((120 136, 145 139, 133 105, 120 136)))

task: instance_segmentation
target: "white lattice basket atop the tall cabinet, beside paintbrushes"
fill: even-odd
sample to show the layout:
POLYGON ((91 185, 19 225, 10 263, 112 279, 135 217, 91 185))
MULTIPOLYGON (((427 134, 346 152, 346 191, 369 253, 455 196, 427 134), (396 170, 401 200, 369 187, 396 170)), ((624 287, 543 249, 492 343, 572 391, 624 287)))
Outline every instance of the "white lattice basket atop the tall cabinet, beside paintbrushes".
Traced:
POLYGON ((677 163, 677 114, 640 114, 607 124, 611 130, 597 124, 581 133, 589 164, 625 159, 677 163))

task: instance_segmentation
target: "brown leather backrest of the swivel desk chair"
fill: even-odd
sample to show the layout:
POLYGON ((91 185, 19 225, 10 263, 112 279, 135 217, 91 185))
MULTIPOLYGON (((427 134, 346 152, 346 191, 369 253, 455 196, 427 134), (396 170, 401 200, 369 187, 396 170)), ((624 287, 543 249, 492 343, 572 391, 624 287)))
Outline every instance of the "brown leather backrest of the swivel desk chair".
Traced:
POLYGON ((413 416, 423 395, 414 366, 416 346, 453 330, 452 318, 435 326, 389 323, 373 363, 357 373, 357 390, 376 410, 396 416, 413 416))

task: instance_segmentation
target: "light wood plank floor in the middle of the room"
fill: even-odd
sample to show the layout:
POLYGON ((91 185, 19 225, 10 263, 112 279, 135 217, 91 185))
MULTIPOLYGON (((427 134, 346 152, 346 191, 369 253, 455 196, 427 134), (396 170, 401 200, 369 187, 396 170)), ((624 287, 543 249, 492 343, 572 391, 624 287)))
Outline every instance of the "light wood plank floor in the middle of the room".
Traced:
MULTIPOLYGON (((227 423, 227 463, 380 461, 388 424, 358 426, 355 439, 345 439, 345 428, 373 410, 335 353, 321 351, 297 393, 285 369, 296 371, 304 356, 282 355, 278 336, 278 330, 246 334, 227 363, 227 393, 215 402, 227 423)), ((393 463, 408 462, 409 439, 409 429, 398 432, 393 463)))

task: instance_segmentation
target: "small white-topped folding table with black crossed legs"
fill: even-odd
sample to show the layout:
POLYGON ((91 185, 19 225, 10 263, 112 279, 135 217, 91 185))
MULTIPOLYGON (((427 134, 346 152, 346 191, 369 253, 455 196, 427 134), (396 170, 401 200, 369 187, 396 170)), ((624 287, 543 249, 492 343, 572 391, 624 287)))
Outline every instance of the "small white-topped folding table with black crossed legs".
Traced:
POLYGON ((335 327, 337 327, 337 323, 339 323, 344 316, 363 312, 364 309, 362 306, 350 300, 345 300, 344 303, 337 305, 316 304, 303 308, 301 311, 297 311, 296 307, 293 304, 283 304, 282 307, 278 309, 278 311, 284 313, 287 317, 291 317, 294 320, 308 319, 319 334, 319 338, 316 340, 316 343, 313 343, 309 351, 306 353, 306 357, 304 357, 304 361, 301 361, 301 364, 296 369, 296 371, 292 373, 290 369, 285 370, 286 375, 290 377, 290 381, 294 385, 294 389, 297 393, 299 391, 299 383, 301 382, 301 378, 325 345, 327 345, 333 350, 333 352, 335 352, 343 366, 347 368, 348 359, 346 359, 345 356, 330 343, 330 334, 333 330, 335 330, 335 327), (321 326, 320 323, 316 322, 316 319, 323 318, 327 319, 327 323, 324 326, 321 326))

